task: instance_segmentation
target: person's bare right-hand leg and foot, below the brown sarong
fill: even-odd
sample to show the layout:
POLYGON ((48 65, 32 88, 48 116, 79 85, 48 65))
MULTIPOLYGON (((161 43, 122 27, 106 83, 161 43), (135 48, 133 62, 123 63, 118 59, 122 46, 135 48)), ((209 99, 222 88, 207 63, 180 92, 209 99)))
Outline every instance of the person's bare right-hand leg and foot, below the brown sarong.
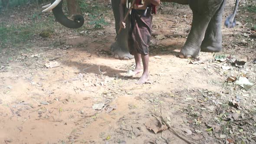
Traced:
POLYGON ((136 84, 143 84, 147 82, 148 77, 149 77, 149 72, 148 72, 148 61, 149 61, 149 56, 148 55, 141 55, 142 63, 143 63, 143 74, 141 75, 141 78, 136 82, 136 84))

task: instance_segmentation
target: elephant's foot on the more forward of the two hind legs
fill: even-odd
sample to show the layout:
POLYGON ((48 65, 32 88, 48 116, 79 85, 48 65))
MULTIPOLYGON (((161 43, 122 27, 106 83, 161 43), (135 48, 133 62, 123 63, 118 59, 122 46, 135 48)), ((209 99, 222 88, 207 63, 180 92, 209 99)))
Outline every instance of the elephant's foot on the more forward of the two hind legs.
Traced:
POLYGON ((181 59, 197 58, 200 53, 200 48, 195 49, 193 47, 184 46, 180 52, 181 59))

